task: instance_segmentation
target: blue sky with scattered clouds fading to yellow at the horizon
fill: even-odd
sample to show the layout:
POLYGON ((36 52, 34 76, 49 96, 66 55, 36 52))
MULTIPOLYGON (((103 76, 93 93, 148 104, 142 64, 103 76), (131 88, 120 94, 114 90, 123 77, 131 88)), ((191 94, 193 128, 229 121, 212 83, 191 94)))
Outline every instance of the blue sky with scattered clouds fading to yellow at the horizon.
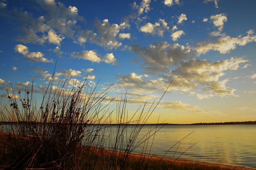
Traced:
MULTIPOLYGON (((87 76, 147 123, 256 120, 256 1, 0 0, 0 92, 87 76), (158 120, 159 119, 159 120, 158 120)), ((41 97, 42 98, 42 97, 41 97)), ((115 109, 116 103, 108 107, 115 109)))

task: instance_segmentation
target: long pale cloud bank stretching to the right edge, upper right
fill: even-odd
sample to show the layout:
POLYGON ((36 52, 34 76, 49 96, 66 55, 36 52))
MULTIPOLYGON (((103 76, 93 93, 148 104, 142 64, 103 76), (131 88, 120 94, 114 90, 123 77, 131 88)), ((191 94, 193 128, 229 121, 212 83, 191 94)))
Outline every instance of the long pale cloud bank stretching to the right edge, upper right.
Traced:
POLYGON ((208 51, 214 50, 219 51, 221 54, 226 54, 230 52, 230 50, 236 49, 236 46, 244 46, 247 43, 256 42, 256 35, 253 35, 253 30, 247 31, 247 36, 242 37, 241 35, 232 38, 230 36, 222 36, 216 39, 214 42, 198 42, 196 51, 198 55, 205 54, 208 51))

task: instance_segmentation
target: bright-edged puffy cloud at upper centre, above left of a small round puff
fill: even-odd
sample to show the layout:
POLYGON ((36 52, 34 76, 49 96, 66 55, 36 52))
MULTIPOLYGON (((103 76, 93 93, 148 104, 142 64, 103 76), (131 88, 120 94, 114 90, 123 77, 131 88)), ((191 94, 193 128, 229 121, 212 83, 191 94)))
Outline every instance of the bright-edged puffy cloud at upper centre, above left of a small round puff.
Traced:
POLYGON ((144 33, 150 33, 151 35, 159 35, 162 37, 164 35, 164 31, 169 30, 169 27, 164 19, 159 19, 159 22, 155 24, 147 23, 140 28, 140 31, 144 33))

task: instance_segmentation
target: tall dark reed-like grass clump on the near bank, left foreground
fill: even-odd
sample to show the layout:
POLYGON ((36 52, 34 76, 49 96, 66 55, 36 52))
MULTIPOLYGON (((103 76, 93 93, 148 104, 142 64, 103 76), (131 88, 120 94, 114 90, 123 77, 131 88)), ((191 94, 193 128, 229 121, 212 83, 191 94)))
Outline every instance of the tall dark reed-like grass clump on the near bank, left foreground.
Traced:
POLYGON ((97 93, 97 85, 89 86, 87 80, 77 84, 71 77, 55 86, 53 74, 39 105, 33 87, 30 92, 25 86, 22 97, 18 89, 6 86, 1 100, 5 134, 0 139, 0 169, 148 169, 150 158, 134 164, 130 153, 138 146, 143 148, 141 154, 150 153, 149 139, 161 127, 138 137, 158 103, 148 111, 145 103, 128 119, 126 95, 116 101, 116 111, 110 111, 107 107, 113 100, 106 98, 107 89, 97 93))

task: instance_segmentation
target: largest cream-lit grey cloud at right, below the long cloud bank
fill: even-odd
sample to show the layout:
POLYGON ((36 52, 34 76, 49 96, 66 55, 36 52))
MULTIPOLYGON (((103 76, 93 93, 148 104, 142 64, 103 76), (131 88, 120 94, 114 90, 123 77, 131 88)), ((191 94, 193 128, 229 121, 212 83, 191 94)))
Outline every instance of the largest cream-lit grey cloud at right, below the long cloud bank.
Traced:
MULTIPOLYGON (((219 80, 224 76, 224 71, 237 70, 240 63, 248 62, 242 58, 230 58, 229 60, 216 61, 211 63, 208 60, 195 60, 180 62, 180 65, 175 70, 170 70, 169 74, 172 76, 166 77, 169 80, 174 79, 181 88, 197 89, 197 85, 205 86, 202 88, 209 94, 198 94, 199 99, 210 98, 213 95, 231 95, 234 94, 236 89, 229 89, 226 83, 229 79, 219 80), (182 80, 182 83, 180 82, 182 80), (189 86, 189 84, 191 84, 189 86)), ((188 89, 188 90, 189 90, 188 89)), ((183 90, 184 91, 184 90, 183 90)))

